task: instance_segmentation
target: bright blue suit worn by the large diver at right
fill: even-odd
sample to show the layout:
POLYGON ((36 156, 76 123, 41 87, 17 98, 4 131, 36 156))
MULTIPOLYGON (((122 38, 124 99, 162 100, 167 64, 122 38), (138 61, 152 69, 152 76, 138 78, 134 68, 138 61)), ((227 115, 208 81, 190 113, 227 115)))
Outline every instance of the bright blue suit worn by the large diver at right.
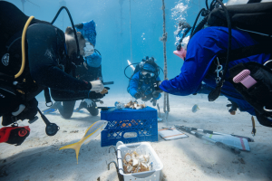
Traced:
MULTIPOLYGON (((231 49, 257 44, 248 33, 232 30, 231 49)), ((162 81, 160 89, 170 94, 186 96, 196 93, 204 81, 209 87, 216 87, 216 73, 209 71, 209 67, 219 53, 228 50, 228 28, 211 26, 196 33, 189 41, 186 60, 184 61, 180 75, 169 81, 162 81)), ((258 54, 237 61, 229 62, 231 68, 241 62, 258 62, 263 64, 269 60, 270 54, 258 54)), ((222 64, 223 67, 225 64, 222 64)), ((227 71, 227 77, 229 71, 227 71)), ((225 81, 221 93, 229 100, 238 104, 241 111, 248 111, 255 116, 255 110, 235 90, 229 81, 225 81)))

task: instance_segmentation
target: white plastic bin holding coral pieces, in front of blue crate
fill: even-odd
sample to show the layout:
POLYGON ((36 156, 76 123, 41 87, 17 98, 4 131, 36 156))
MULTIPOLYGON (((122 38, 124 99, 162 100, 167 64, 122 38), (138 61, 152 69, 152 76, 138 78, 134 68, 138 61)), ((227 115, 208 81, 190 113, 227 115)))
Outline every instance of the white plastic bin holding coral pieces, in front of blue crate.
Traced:
POLYGON ((124 181, 160 181, 160 170, 163 165, 155 150, 148 142, 132 143, 132 144, 117 144, 117 160, 119 173, 123 176, 124 181), (122 159, 126 153, 136 151, 138 154, 150 155, 150 162, 152 162, 152 170, 147 172, 124 174, 122 167, 122 159))

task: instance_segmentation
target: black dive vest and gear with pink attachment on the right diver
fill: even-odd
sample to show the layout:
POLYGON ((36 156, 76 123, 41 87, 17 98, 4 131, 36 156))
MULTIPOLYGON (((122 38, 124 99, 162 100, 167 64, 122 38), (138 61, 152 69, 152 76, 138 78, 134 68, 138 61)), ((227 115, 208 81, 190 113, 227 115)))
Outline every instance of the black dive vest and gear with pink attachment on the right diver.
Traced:
MULTIPOLYGON (((221 80, 215 90, 209 93, 209 101, 216 100, 225 80, 230 81, 235 89, 255 109, 260 124, 272 127, 272 71, 271 63, 264 65, 257 62, 240 63, 228 70, 228 62, 236 61, 261 53, 272 53, 272 2, 260 3, 260 0, 248 1, 246 5, 224 6, 220 0, 212 1, 207 10, 199 12, 204 16, 203 20, 195 28, 197 33, 209 26, 228 27, 228 52, 218 55, 215 61, 225 64, 221 80), (248 32, 258 44, 231 50, 231 28, 248 32), (224 72, 229 71, 230 76, 225 78, 224 72), (271 120, 271 121, 270 121, 271 120)), ((271 57, 271 56, 270 56, 271 57)))

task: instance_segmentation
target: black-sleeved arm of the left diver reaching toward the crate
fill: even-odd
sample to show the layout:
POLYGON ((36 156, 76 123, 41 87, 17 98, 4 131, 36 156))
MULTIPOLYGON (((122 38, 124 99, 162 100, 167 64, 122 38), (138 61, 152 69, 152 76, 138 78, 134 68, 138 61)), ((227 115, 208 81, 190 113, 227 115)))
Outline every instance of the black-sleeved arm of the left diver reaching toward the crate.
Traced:
POLYGON ((58 90, 91 90, 90 82, 79 81, 58 68, 56 29, 34 24, 27 29, 30 73, 40 85, 58 90))

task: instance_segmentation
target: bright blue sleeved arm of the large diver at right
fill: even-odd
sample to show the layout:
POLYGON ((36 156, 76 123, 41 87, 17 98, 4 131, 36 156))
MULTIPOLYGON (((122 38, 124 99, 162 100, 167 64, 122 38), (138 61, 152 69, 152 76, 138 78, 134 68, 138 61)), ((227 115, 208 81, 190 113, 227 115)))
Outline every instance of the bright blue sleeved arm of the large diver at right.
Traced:
POLYGON ((186 96, 199 89, 212 60, 219 51, 217 34, 212 30, 196 33, 189 41, 186 60, 180 75, 169 81, 162 81, 160 89, 170 94, 186 96))

